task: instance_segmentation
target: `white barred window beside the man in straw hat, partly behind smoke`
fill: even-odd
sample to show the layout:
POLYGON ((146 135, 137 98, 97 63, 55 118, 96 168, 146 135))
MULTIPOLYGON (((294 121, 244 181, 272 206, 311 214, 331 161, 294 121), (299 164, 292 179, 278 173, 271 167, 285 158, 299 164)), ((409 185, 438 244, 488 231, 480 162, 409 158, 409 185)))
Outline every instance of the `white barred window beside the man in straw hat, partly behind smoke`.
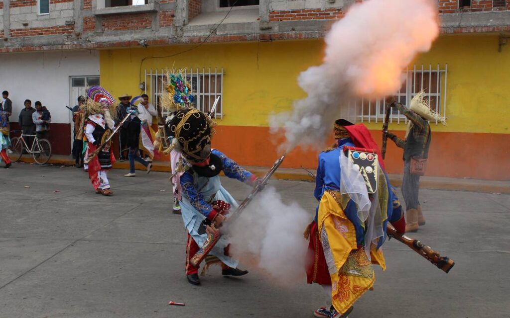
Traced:
MULTIPOLYGON (((430 101, 430 108, 435 110, 440 118, 446 119, 446 88, 447 88, 447 75, 448 65, 441 68, 438 64, 432 68, 428 68, 423 64, 420 68, 416 65, 412 69, 407 68, 403 73, 405 81, 398 92, 395 93, 395 99, 402 105, 410 106, 411 100, 417 93, 423 91, 425 97, 430 101)), ((386 102, 381 100, 355 100, 348 104, 347 118, 352 118, 352 112, 355 114, 357 121, 362 123, 378 123, 384 121, 386 114, 386 102)), ((407 123, 407 118, 401 114, 396 108, 392 108, 390 114, 390 123, 396 122, 398 124, 407 123)), ((436 121, 437 124, 437 121, 436 121)))

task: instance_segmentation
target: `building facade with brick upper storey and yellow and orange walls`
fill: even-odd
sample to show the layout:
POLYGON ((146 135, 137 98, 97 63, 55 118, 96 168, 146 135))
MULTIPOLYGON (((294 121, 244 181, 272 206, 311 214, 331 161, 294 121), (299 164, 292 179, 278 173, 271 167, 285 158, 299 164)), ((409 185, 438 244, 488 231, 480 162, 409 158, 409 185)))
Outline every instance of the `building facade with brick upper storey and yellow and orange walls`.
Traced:
MULTIPOLYGON (((355 2, 361 1, 4 0, 0 69, 6 56, 16 60, 25 52, 79 54, 88 68, 63 72, 67 83, 73 76, 100 74, 101 85, 115 96, 146 92, 157 102, 161 73, 187 68, 199 108, 208 109, 215 97, 221 98, 213 146, 242 164, 268 166, 277 157, 268 141, 274 139, 268 115, 290 109, 303 96, 297 75, 320 64, 322 37, 355 2)), ((408 67, 397 93, 407 101, 421 85, 447 118, 446 126, 432 124, 427 175, 509 180, 504 158, 510 148, 510 93, 504 70, 510 67, 510 1, 437 2, 441 36, 408 67), (473 168, 479 151, 485 166, 498 169, 473 168)), ((1 90, 9 85, 0 79, 1 90)), ((70 100, 69 84, 60 92, 68 92, 70 100)), ((380 140, 380 105, 363 105, 355 115, 380 140)), ((58 115, 60 124, 70 124, 66 116, 58 115)), ((403 134, 405 121, 395 118, 390 129, 403 134)), ((400 173, 401 152, 390 146, 388 153, 389 172, 400 173)), ((316 158, 315 150, 297 149, 284 165, 314 167, 316 158)))

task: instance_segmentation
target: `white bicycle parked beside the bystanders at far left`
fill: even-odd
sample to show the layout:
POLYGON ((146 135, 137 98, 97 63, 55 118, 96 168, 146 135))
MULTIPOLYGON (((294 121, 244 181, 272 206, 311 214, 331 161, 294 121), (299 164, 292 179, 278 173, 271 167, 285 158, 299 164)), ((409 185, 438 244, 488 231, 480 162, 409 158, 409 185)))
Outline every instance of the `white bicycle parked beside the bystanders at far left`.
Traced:
MULTIPOLYGON (((19 130, 13 130, 11 132, 18 132, 19 130)), ((47 139, 39 139, 37 135, 29 135, 23 134, 21 130, 21 135, 19 137, 12 138, 12 161, 18 162, 23 156, 23 151, 28 154, 32 154, 34 157, 34 161, 38 164, 45 164, 49 161, 49 158, 52 156, 52 145, 49 143, 47 139), (23 137, 34 137, 32 141, 32 147, 29 149, 29 146, 23 137)))

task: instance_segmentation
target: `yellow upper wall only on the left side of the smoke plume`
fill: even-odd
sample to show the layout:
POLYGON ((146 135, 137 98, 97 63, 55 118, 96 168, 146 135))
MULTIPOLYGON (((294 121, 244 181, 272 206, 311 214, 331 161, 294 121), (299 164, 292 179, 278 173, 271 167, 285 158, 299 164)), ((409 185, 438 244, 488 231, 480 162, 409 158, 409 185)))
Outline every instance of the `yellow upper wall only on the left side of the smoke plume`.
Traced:
MULTIPOLYGON (((139 94, 140 62, 145 56, 165 56, 192 47, 148 47, 101 51, 101 84, 114 96, 139 94)), ((310 65, 320 64, 322 41, 279 41, 205 44, 190 52, 163 59, 146 59, 145 69, 223 67, 221 125, 267 126, 271 112, 289 109, 301 98, 296 78, 310 65)))

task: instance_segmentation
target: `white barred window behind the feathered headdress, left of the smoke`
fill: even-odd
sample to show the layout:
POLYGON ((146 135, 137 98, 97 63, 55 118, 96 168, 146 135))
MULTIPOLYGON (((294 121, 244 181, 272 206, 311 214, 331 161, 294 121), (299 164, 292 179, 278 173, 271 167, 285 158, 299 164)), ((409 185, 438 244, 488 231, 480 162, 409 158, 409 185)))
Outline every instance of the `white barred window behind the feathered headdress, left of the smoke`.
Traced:
MULTIPOLYGON (((213 107, 216 98, 220 98, 214 112, 214 117, 219 119, 223 119, 223 75, 223 68, 202 68, 201 70, 190 68, 183 72, 186 80, 191 82, 195 108, 207 113, 213 107)), ((166 71, 164 69, 145 70, 145 83, 145 94, 152 97, 152 103, 157 106, 162 117, 168 116, 168 111, 162 109, 160 105, 161 94, 167 83, 166 71)))

